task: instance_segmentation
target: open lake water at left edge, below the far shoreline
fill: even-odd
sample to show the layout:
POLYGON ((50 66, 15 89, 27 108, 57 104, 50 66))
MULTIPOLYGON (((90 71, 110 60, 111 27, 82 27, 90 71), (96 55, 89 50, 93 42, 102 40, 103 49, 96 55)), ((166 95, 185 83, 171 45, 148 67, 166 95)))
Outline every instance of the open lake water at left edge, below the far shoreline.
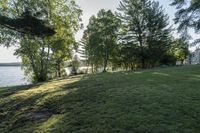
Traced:
POLYGON ((28 83, 21 67, 0 66, 0 87, 26 85, 28 83))

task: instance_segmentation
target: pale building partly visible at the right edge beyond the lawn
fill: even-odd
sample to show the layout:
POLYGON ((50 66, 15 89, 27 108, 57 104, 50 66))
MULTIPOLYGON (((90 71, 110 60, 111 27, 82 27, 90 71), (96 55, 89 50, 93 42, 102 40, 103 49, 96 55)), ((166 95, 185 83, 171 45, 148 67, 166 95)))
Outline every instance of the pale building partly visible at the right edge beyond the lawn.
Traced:
POLYGON ((189 63, 191 65, 200 64, 200 48, 190 53, 189 63))

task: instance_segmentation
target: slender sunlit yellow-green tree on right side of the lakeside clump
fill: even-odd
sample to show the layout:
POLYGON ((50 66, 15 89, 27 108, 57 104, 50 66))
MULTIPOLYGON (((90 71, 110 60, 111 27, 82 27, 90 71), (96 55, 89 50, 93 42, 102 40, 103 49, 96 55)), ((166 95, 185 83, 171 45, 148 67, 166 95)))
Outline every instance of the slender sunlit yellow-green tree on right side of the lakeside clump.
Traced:
POLYGON ((51 21, 57 34, 50 39, 49 43, 53 44, 53 59, 55 60, 57 75, 61 77, 64 61, 72 57, 72 45, 76 44, 75 33, 80 28, 79 22, 82 11, 73 0, 68 2, 60 0, 56 4, 53 2, 50 4, 54 9, 54 12, 51 10, 51 21), (61 15, 58 15, 60 13, 61 15))

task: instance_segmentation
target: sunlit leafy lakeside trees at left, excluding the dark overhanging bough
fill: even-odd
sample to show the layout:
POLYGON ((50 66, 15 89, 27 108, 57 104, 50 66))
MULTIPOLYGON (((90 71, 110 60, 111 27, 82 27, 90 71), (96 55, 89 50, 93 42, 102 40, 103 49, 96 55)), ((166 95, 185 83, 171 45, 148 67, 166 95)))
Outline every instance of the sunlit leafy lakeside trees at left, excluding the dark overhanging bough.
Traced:
POLYGON ((18 18, 27 9, 31 16, 53 26, 56 34, 43 37, 22 35, 15 54, 22 58, 25 72, 36 82, 48 80, 54 70, 61 76, 61 64, 70 58, 74 34, 79 29, 80 8, 74 0, 8 0, 4 14, 18 18))

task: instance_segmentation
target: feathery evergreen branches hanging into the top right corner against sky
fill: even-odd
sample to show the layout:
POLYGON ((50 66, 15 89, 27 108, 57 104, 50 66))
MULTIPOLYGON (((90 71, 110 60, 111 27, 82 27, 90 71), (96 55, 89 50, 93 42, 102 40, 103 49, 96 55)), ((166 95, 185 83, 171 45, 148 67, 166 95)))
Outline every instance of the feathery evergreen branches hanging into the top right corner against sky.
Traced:
MULTIPOLYGON (((178 10, 175 14, 175 23, 179 23, 178 31, 184 38, 188 38, 188 30, 192 28, 196 33, 200 31, 200 2, 199 0, 174 0, 171 4, 178 10)), ((197 39, 194 44, 200 42, 197 39)))

